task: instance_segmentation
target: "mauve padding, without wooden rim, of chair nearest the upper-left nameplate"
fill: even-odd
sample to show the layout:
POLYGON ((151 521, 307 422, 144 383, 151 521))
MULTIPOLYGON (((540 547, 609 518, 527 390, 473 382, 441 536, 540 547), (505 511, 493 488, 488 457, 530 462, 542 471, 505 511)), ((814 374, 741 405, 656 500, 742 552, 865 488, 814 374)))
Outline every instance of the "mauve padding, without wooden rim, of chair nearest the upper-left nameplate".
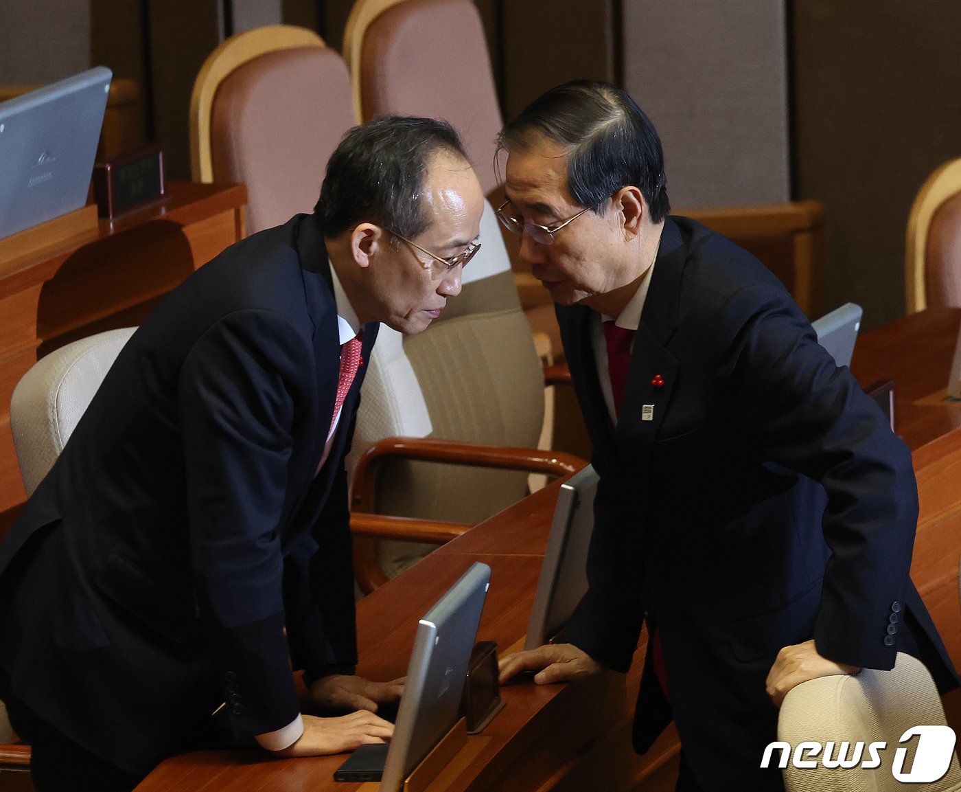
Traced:
POLYGON ((354 124, 350 77, 334 50, 300 47, 244 63, 217 89, 213 179, 249 186, 250 233, 317 203, 327 161, 354 124))

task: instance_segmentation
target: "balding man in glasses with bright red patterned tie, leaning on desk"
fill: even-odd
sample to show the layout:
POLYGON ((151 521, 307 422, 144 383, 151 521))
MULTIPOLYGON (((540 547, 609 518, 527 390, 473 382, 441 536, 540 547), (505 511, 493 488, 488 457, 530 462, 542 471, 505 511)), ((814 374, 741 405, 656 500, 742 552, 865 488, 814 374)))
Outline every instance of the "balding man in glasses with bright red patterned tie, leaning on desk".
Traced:
POLYGON ((0 545, 0 698, 39 792, 132 788, 218 723, 286 756, 390 735, 373 711, 402 681, 354 676, 344 457, 378 323, 431 324, 482 208, 448 125, 357 127, 314 214, 210 261, 127 343, 0 545), (302 715, 291 660, 359 711, 302 715))

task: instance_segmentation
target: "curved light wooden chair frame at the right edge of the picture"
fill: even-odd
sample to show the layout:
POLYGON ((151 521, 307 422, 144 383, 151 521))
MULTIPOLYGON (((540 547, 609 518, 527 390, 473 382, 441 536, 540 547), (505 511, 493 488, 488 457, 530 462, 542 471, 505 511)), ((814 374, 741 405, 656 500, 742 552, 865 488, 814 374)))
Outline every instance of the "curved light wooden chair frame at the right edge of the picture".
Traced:
POLYGON ((927 308, 927 234, 931 218, 945 201, 961 192, 961 159, 938 167, 918 190, 907 218, 904 240, 904 296, 907 312, 927 308))

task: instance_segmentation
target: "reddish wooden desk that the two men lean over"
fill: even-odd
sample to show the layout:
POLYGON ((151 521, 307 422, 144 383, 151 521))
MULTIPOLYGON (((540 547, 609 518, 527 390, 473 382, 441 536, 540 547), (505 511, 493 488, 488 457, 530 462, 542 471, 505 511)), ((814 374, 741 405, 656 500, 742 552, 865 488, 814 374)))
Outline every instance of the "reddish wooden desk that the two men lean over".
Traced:
MULTIPOLYGON (((386 583, 357 605, 357 673, 394 679, 407 670, 417 620, 475 560, 492 569, 479 640, 504 652, 527 630, 533 593, 554 511, 557 484, 515 504, 448 543, 417 567, 386 583), (497 547, 500 552, 491 553, 497 547)), ((639 652, 646 647, 642 636, 639 652)), ((643 656, 643 654, 641 655, 643 656)), ((533 789, 671 790, 677 738, 670 731, 645 756, 634 755, 629 720, 642 663, 625 678, 613 672, 577 685, 507 685, 507 705, 476 737, 476 755, 448 768, 431 785, 445 792, 528 792, 533 789), (584 776, 590 769, 589 778, 584 776)), ((259 751, 202 752, 164 761, 137 792, 231 789, 236 792, 353 792, 336 783, 343 755, 273 759, 259 751)))

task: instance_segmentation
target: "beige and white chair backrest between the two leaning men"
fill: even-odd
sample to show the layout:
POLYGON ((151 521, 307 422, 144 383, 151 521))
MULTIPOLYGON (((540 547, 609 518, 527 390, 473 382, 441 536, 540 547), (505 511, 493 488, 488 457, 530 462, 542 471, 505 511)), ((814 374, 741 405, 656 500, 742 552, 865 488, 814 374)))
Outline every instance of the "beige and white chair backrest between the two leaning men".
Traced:
MULTIPOLYGON (((417 335, 382 325, 364 379, 349 459, 382 437, 433 436, 536 448, 544 417, 543 370, 504 240, 490 204, 483 246, 463 271, 463 289, 417 335)), ((527 494, 527 474, 418 461, 385 464, 376 510, 476 524, 527 494)), ((406 543, 404 557, 423 556, 406 543)), ((384 562, 397 571, 406 562, 384 562)))

